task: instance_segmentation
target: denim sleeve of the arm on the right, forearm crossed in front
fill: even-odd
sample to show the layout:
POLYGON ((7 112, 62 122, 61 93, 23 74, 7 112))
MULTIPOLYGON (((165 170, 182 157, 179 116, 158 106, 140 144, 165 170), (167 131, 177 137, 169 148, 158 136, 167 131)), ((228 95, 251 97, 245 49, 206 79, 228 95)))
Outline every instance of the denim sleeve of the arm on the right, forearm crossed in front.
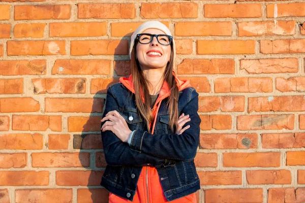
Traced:
POLYGON ((199 144, 200 117, 198 111, 198 93, 190 91, 189 102, 180 112, 190 115, 191 121, 185 126, 190 128, 182 134, 150 134, 136 130, 130 147, 143 153, 165 159, 189 161, 195 158, 199 144))

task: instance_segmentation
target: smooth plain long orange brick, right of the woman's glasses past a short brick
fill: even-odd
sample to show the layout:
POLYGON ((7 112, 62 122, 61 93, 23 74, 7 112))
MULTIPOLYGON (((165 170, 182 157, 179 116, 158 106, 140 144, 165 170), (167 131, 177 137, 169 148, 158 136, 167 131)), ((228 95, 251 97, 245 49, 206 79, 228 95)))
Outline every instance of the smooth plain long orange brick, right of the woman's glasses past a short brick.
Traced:
POLYGON ((197 40, 197 54, 255 54, 255 41, 197 40))

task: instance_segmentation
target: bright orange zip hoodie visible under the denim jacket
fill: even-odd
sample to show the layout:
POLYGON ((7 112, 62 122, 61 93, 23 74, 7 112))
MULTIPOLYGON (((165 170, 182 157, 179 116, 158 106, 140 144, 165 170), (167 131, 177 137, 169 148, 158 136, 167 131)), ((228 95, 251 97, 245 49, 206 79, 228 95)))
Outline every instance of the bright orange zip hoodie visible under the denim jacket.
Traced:
MULTIPOLYGON (((174 72, 173 75, 175 76, 174 72)), ((187 87, 191 87, 188 80, 181 81, 176 76, 176 83, 179 91, 187 87)), ((122 83, 127 89, 135 93, 132 75, 129 78, 120 78, 119 82, 122 83)), ((151 128, 151 134, 154 133, 158 111, 161 105, 161 101, 170 95, 170 87, 167 82, 164 81, 163 86, 160 90, 159 97, 153 108, 154 123, 151 128, 151 123, 149 127, 151 128)), ((142 97, 144 100, 144 98, 142 97)), ((109 192, 109 203, 121 203, 121 202, 131 202, 128 199, 121 198, 115 194, 109 192)), ((159 175, 157 169, 154 166, 143 166, 142 172, 137 183, 136 194, 133 198, 134 203, 163 203, 168 202, 164 196, 163 189, 159 180, 159 175)), ((175 199, 171 201, 172 203, 196 203, 195 193, 175 199)))

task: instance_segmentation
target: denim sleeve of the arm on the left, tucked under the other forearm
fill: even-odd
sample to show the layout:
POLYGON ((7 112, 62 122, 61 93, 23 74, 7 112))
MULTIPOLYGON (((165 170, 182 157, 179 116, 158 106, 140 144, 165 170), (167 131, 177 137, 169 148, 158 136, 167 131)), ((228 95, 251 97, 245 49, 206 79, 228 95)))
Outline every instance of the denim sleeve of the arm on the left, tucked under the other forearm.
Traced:
MULTIPOLYGON (((114 98, 114 94, 112 93, 111 87, 109 87, 107 90, 106 105, 103 117, 109 111, 113 110, 119 111, 116 99, 114 98)), ((105 122, 103 122, 102 125, 105 122)), ((158 167, 166 162, 164 158, 154 157, 153 155, 148 155, 133 150, 127 143, 119 140, 110 130, 106 130, 104 132, 101 131, 101 135, 106 162, 109 165, 143 166, 150 164, 152 166, 158 167)))

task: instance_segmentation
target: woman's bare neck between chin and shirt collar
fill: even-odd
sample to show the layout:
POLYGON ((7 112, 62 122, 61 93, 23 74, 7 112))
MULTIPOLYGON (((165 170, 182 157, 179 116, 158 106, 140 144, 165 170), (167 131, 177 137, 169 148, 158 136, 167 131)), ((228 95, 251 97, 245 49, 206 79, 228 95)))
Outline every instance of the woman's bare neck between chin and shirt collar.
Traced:
POLYGON ((143 70, 145 78, 148 80, 148 90, 150 95, 158 94, 163 85, 163 74, 165 67, 161 69, 146 69, 143 70))

